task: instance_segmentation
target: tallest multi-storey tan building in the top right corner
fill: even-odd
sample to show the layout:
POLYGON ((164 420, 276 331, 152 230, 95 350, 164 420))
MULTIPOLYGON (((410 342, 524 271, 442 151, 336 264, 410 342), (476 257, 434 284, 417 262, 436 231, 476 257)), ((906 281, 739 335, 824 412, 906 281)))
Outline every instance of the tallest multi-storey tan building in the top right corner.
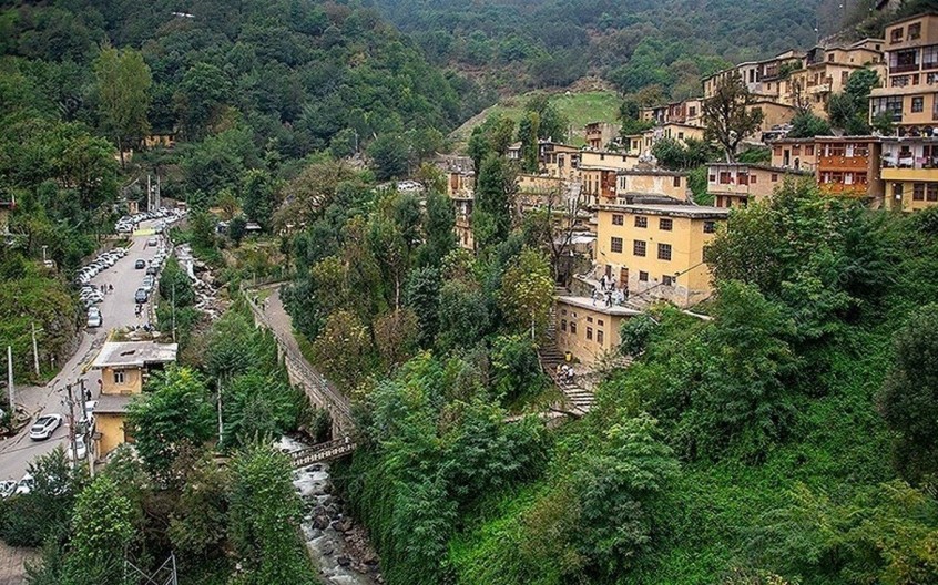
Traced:
POLYGON ((886 83, 870 92, 869 116, 888 115, 899 136, 932 135, 938 126, 938 13, 886 28, 886 83))

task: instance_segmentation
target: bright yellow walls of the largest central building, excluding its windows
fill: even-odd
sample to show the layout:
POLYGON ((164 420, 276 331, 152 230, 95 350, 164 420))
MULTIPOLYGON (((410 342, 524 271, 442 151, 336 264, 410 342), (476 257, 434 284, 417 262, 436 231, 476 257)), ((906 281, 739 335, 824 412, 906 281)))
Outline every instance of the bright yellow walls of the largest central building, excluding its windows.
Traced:
POLYGON ((696 219, 630 213, 613 208, 598 212, 597 264, 610 266, 615 281, 628 269, 630 295, 646 294, 648 298, 663 298, 679 306, 693 305, 712 294, 710 268, 703 263, 703 250, 714 234, 704 233, 704 224, 718 225, 722 219, 696 219), (623 216, 622 225, 613 224, 613 216, 623 216), (648 227, 636 227, 635 218, 643 217, 648 227), (661 219, 670 218, 672 229, 661 229, 661 219), (612 238, 622 238, 622 252, 612 250, 612 238), (645 243, 645 255, 634 254, 634 243, 645 243), (671 246, 671 259, 659 259, 659 244, 671 246), (642 280, 640 273, 648 274, 642 280), (675 275, 672 286, 662 285, 664 276, 675 275))

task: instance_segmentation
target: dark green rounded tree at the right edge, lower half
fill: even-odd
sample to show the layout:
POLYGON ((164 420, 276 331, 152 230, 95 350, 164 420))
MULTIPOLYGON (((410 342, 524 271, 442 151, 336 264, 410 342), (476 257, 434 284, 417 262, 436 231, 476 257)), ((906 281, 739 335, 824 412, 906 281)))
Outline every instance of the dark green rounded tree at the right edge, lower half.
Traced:
POLYGON ((938 305, 918 309, 895 337, 879 411, 896 432, 896 468, 911 482, 938 478, 938 305))

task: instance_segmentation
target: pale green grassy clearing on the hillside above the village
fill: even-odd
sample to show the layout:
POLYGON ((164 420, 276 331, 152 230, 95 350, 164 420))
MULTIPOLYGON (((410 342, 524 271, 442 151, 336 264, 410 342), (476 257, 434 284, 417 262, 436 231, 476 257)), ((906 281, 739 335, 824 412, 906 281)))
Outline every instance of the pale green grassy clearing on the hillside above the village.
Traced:
MULTIPOLYGON (((466 147, 469 135, 472 134, 472 129, 481 124, 486 117, 493 113, 500 113, 514 120, 516 122, 521 117, 524 110, 524 102, 532 95, 538 95, 542 92, 530 92, 522 95, 512 95, 504 98, 496 105, 487 107, 478 115, 469 119, 465 124, 456 129, 450 138, 453 141, 453 146, 457 151, 466 147)), ((568 92, 555 93, 551 102, 557 105, 558 110, 570 120, 572 126, 571 140, 569 141, 575 146, 585 144, 583 140, 583 126, 590 122, 615 122, 619 114, 620 99, 614 91, 588 91, 588 92, 568 92)))

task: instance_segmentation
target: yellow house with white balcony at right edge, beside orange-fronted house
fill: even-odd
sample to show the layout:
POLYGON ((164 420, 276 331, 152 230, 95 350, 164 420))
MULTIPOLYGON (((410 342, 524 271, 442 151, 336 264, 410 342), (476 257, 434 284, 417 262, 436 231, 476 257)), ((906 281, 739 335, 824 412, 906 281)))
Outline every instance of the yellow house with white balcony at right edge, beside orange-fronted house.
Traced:
POLYGON ((890 208, 938 205, 938 137, 883 138, 880 166, 890 208))

